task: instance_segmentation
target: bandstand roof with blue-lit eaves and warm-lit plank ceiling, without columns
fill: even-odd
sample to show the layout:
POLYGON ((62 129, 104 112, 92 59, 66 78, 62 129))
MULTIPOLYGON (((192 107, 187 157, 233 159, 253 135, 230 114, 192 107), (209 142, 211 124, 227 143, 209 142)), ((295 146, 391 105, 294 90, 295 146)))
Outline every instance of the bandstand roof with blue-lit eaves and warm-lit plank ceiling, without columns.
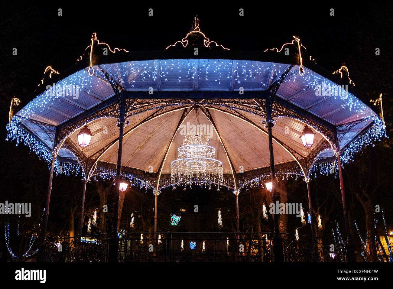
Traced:
POLYGON ((38 141, 50 152, 54 131, 59 137, 59 132, 71 127, 55 144, 59 148, 64 142, 58 159, 73 162, 77 156, 81 162, 98 158, 98 166, 111 168, 116 164, 118 129, 116 113, 110 107, 116 109, 112 85, 118 85, 127 99, 139 101, 127 114, 122 163, 125 171, 143 174, 151 166, 157 173, 162 163, 163 173, 170 173, 170 163, 181 144, 176 125, 182 120, 214 124, 211 144, 224 163, 224 173, 231 173, 232 167, 238 174, 244 170, 255 176, 269 166, 263 125, 266 119, 258 101, 277 80, 281 85, 275 99, 273 136, 278 168, 298 165, 301 158, 307 169, 303 173, 309 175, 310 166, 331 162, 339 151, 347 160, 352 158, 359 145, 361 148, 369 141, 365 134, 370 140, 384 136, 383 121, 375 107, 366 105, 348 81, 316 66, 300 40, 288 43, 289 55, 279 49, 234 52, 203 37, 198 45, 201 34, 191 31, 184 38, 188 39, 186 45, 182 41, 153 52, 112 49, 93 35, 92 44, 73 68, 61 74, 48 70, 50 78, 39 85, 37 96, 11 121, 9 138, 24 140, 24 133, 30 134, 35 140, 28 145, 38 141), (105 48, 109 50, 107 55, 103 54, 105 48), (195 48, 198 55, 194 55, 195 48), (71 90, 68 94, 67 89, 71 90), (196 106, 200 111, 197 116, 187 110, 196 106), (167 111, 162 113, 164 108, 167 111), (317 133, 312 149, 305 149, 299 138, 305 123, 317 133), (76 134, 84 124, 94 136, 89 147, 82 150, 76 134), (100 151, 102 154, 95 156, 100 151))

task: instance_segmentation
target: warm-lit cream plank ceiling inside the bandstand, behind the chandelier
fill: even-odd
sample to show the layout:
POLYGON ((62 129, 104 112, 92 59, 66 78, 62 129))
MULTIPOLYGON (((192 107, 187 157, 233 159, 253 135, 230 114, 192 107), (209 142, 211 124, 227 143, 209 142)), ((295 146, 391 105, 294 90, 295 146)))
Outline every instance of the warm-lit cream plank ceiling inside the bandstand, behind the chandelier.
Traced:
MULTIPOLYGON (((127 120, 130 124, 125 128, 125 137, 123 138, 122 166, 149 171, 149 168, 156 173, 165 156, 167 147, 175 133, 184 109, 169 112, 163 116, 155 118, 144 123, 135 130, 132 130, 141 120, 154 114, 155 110, 143 112, 135 116, 130 116, 127 120)), ((237 173, 242 168, 244 171, 259 169, 269 166, 269 148, 267 134, 250 125, 235 116, 210 109, 213 121, 217 126, 217 131, 225 145, 229 158, 237 173)), ((263 118, 251 113, 242 112, 255 125, 263 131, 266 129, 261 125, 263 118)), ((208 118, 198 111, 192 110, 183 125, 192 127, 192 125, 210 126, 208 133, 211 138, 209 144, 217 149, 217 158, 223 163, 224 173, 231 173, 231 167, 228 162, 223 144, 219 141, 217 133, 211 127, 208 118), (209 133, 211 132, 211 133, 209 133)), ((305 149, 300 140, 301 131, 304 125, 299 121, 290 118, 279 118, 273 128, 273 136, 284 144, 293 147, 299 154, 307 156, 310 150, 305 149)), ((117 121, 114 118, 104 118, 93 121, 89 124, 93 138, 90 145, 83 150, 87 157, 94 155, 99 149, 110 144, 113 140, 118 139, 117 121)), ((72 134, 69 139, 77 147, 77 133, 72 134)), ((163 166, 163 173, 171 172, 171 162, 177 156, 177 148, 182 145, 184 135, 182 129, 178 129, 173 140, 168 156, 163 166)), ((316 134, 315 143, 318 144, 323 139, 320 134, 316 134)), ((286 149, 280 144, 274 142, 275 163, 282 164, 294 161, 286 149)), ((316 145, 314 146, 316 147, 316 145)), ((117 163, 118 145, 114 144, 99 158, 101 162, 111 164, 117 163)))

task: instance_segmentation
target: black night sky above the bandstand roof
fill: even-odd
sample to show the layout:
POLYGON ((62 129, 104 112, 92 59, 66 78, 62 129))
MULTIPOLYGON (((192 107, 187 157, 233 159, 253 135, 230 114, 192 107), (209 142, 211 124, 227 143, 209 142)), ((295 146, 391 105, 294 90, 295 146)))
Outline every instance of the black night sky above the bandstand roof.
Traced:
POLYGON ((277 6, 279 9, 275 11, 274 6, 265 10, 239 5, 6 7, 2 18, 2 55, 6 56, 7 71, 18 74, 18 89, 25 88, 29 94, 46 65, 51 64, 60 72, 72 66, 89 45, 92 32, 112 46, 159 50, 184 37, 196 14, 202 31, 210 39, 233 50, 263 51, 281 46, 291 41, 292 35, 298 35, 310 55, 327 70, 335 70, 343 62, 351 70, 351 62, 359 60, 354 50, 363 42, 382 48, 391 44, 391 35, 386 33, 387 28, 391 29, 387 27, 392 23, 387 12, 391 9, 331 4, 301 9, 294 4, 277 6), (57 16, 59 7, 63 9, 62 17, 57 16), (148 16, 149 8, 154 9, 153 17, 148 16), (244 17, 239 16, 239 8, 244 9, 244 17), (334 17, 329 16, 330 8, 335 9, 334 17), (372 31, 372 38, 362 39, 362 31, 372 31), (18 48, 17 57, 11 56, 14 47, 18 48))

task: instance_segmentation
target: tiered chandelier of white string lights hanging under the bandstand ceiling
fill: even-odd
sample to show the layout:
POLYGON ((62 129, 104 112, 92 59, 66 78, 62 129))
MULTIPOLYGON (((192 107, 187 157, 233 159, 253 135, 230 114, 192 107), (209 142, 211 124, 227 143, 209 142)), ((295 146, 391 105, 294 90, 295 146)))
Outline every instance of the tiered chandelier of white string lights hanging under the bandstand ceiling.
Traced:
MULTIPOLYGON (((178 157, 171 162, 171 181, 175 185, 222 185, 222 162, 216 159, 216 149, 209 145, 207 135, 187 134, 178 149, 178 157)), ((174 186, 174 188, 176 188, 174 186)), ((220 191, 218 189, 218 191, 220 191)))

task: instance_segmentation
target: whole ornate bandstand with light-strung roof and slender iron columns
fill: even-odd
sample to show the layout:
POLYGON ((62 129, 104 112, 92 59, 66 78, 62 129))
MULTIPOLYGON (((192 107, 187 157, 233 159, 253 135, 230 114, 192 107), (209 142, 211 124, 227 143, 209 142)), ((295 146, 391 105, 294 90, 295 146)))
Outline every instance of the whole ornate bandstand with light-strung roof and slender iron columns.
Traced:
MULTIPOLYGON (((264 52, 233 51, 202 33, 196 17, 193 29, 167 48, 129 52, 100 42, 94 33, 72 68, 61 73, 46 68, 35 96, 18 111, 13 99, 7 139, 29 146, 50 167, 41 260, 53 173, 79 172, 84 179, 80 234, 86 182, 92 178, 113 178, 118 188, 126 179, 154 193, 154 232, 164 188, 225 186, 235 194, 239 232, 238 195, 250 186, 272 182, 275 202, 276 180, 299 177, 307 182, 312 212, 310 180, 316 173, 338 173, 353 258, 342 166, 364 145, 386 136, 383 115, 355 90, 347 67, 334 73, 320 68, 298 37, 264 52), (209 145, 222 162, 219 182, 174 180, 171 162, 187 125, 212 128, 209 145), (78 140, 84 127, 92 135, 87 146, 78 140), (311 145, 302 141, 305 129, 314 134, 311 145)), ((112 261, 118 254, 122 193, 115 197, 112 261)), ((278 217, 274 214, 276 261, 283 260, 278 217)))

